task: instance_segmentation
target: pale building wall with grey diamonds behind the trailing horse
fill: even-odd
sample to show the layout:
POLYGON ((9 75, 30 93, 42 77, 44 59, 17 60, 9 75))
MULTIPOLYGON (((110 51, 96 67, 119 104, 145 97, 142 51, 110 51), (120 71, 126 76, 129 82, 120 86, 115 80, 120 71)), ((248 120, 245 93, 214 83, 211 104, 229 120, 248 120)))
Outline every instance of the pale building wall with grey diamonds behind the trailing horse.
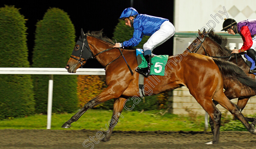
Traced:
POLYGON ((230 49, 240 49, 243 40, 239 34, 232 36, 220 31, 224 18, 235 19, 240 22, 256 18, 256 1, 244 0, 216 0, 216 1, 174 1, 174 26, 173 55, 180 54, 196 37, 198 29, 207 31, 214 29, 215 33, 228 38, 230 49), (237 5, 239 4, 239 5, 237 5))

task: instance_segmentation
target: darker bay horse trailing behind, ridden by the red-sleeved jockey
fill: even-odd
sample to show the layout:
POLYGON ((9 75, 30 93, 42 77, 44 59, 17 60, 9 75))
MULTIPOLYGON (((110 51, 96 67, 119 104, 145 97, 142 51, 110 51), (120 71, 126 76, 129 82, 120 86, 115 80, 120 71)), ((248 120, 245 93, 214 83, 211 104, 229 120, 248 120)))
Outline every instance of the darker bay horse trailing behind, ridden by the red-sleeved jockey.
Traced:
MULTIPOLYGON (((202 33, 198 30, 198 35, 199 36, 190 44, 184 53, 193 52, 210 57, 218 57, 220 59, 233 62, 243 69, 247 76, 251 77, 252 79, 255 78, 254 74, 249 73, 250 67, 244 62, 244 59, 240 56, 241 54, 237 54, 237 56, 235 54, 231 54, 231 50, 226 47, 226 38, 215 34, 213 31, 206 32, 205 29, 202 33)), ((247 97, 246 94, 240 91, 240 86, 235 86, 229 80, 226 80, 225 78, 223 79, 225 95, 229 98, 229 100, 238 98, 237 107, 240 109, 240 111, 242 111, 250 97, 247 97)), ((251 95, 255 96, 256 94, 252 93, 251 95)), ((215 105, 218 104, 218 102, 215 101, 214 103, 215 105)), ((246 120, 253 122, 256 119, 246 117, 246 120)))

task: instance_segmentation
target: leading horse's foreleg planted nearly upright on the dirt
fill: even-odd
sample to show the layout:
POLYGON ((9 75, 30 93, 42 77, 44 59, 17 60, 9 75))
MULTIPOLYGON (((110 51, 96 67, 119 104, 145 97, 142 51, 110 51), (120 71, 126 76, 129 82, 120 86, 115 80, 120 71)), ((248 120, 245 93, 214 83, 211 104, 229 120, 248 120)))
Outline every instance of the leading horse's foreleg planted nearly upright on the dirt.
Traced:
POLYGON ((114 127, 120 121, 119 117, 121 116, 123 118, 123 116, 121 115, 121 112, 123 110, 123 103, 125 102, 125 100, 126 98, 121 98, 121 97, 114 100, 113 115, 111 119, 112 121, 108 128, 109 131, 106 133, 102 141, 109 141, 109 138, 114 130, 114 127))

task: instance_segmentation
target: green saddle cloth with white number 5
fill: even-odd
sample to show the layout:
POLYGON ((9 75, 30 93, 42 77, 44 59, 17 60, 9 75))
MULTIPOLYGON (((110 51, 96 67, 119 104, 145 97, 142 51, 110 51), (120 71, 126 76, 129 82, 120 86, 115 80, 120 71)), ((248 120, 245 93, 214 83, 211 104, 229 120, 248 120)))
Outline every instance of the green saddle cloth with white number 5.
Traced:
MULTIPOLYGON (((139 54, 141 56, 142 62, 138 67, 140 68, 146 68, 148 67, 147 61, 144 58, 143 54, 139 54)), ((159 75, 159 76, 164 76, 165 74, 165 65, 168 60, 168 55, 156 55, 151 58, 151 65, 150 68, 150 75, 159 75)))

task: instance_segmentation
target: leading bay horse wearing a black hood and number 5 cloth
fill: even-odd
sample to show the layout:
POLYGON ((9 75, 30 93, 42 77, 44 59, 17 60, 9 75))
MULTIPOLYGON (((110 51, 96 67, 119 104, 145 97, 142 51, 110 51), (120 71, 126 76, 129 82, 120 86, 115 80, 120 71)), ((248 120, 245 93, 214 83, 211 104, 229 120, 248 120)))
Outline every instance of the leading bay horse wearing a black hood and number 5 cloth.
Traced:
MULTIPOLYGON (((112 122, 109 124, 109 131, 102 139, 102 141, 108 141, 114 129, 111 124, 118 123, 124 103, 129 97, 139 97, 139 73, 135 71, 137 67, 136 51, 134 49, 122 49, 123 56, 134 73, 132 75, 126 66, 126 61, 120 56, 119 49, 112 48, 113 46, 114 43, 110 39, 102 37, 102 31, 84 34, 81 29, 81 36, 77 40, 65 68, 69 73, 76 73, 76 69, 83 66, 87 60, 96 58, 105 67, 108 87, 87 102, 83 108, 62 125, 62 128, 71 127, 71 123, 77 121, 88 109, 114 99, 112 122)), ((218 143, 221 113, 215 107, 212 99, 236 116, 249 132, 255 132, 255 126, 247 122, 236 104, 232 103, 223 93, 222 76, 232 80, 235 85, 241 86, 242 91, 252 90, 251 92, 256 93, 254 87, 256 81, 249 78, 238 66, 195 53, 169 56, 165 67, 165 76, 150 75, 144 78, 144 82, 148 80, 157 82, 153 84, 153 81, 148 81, 144 85, 144 91, 146 96, 150 96, 180 86, 187 86, 190 94, 212 118, 214 123, 212 143, 218 143)), ((247 91, 246 93, 247 96, 250 96, 250 92, 247 91)))

